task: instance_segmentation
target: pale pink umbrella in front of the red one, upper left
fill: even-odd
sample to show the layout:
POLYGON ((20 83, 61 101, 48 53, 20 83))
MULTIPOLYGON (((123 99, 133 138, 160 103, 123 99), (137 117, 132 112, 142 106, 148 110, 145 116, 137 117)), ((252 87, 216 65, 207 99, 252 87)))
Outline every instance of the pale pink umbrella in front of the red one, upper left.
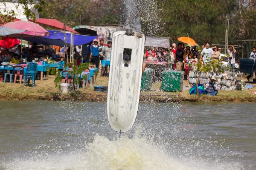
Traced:
POLYGON ((39 26, 36 23, 28 22, 28 21, 15 21, 11 23, 6 23, 3 25, 7 28, 15 28, 20 30, 26 30, 20 33, 20 36, 17 35, 9 35, 9 37, 45 37, 49 36, 49 32, 43 27, 39 26))

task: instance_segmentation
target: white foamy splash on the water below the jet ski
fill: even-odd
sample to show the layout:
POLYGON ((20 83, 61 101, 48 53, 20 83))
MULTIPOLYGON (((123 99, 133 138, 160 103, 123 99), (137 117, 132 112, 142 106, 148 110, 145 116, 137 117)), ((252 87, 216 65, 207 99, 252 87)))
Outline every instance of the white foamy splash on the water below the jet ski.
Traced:
POLYGON ((135 133, 109 140, 96 134, 84 150, 47 158, 14 159, 5 170, 239 170, 239 164, 174 157, 161 145, 135 133))

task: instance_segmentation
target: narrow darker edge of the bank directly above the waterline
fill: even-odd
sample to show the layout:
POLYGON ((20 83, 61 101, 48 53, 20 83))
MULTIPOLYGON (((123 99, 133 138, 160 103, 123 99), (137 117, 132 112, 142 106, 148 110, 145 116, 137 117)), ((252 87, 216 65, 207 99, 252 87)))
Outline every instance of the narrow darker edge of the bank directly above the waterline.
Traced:
MULTIPOLYGON (((107 94, 94 92, 75 91, 67 94, 47 93, 46 95, 15 95, 15 94, 0 94, 0 100, 15 100, 15 101, 74 101, 74 102, 107 102, 107 94)), ((256 102, 256 97, 244 96, 206 96, 206 95, 180 95, 180 94, 140 94, 140 102, 145 103, 180 103, 180 102, 256 102)))

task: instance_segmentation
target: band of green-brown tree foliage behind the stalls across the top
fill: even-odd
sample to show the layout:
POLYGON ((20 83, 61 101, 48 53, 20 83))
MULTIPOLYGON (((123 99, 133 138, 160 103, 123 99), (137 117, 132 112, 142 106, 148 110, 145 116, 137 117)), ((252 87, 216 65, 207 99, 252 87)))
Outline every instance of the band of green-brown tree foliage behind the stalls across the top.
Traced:
MULTIPOLYGON (((122 17, 127 17, 124 14, 128 11, 126 3, 133 1, 131 10, 136 11, 136 15, 129 18, 128 22, 134 22, 137 18, 143 33, 148 36, 170 37, 172 42, 177 42, 177 37, 189 36, 198 44, 206 41, 224 44, 227 19, 230 21, 229 40, 255 39, 256 34, 256 0, 9 1, 21 4, 27 17, 34 17, 34 13, 28 8, 29 4, 34 3, 41 18, 55 18, 71 27, 122 23, 122 17)), ((9 11, 9 14, 15 16, 13 11, 9 11)))

